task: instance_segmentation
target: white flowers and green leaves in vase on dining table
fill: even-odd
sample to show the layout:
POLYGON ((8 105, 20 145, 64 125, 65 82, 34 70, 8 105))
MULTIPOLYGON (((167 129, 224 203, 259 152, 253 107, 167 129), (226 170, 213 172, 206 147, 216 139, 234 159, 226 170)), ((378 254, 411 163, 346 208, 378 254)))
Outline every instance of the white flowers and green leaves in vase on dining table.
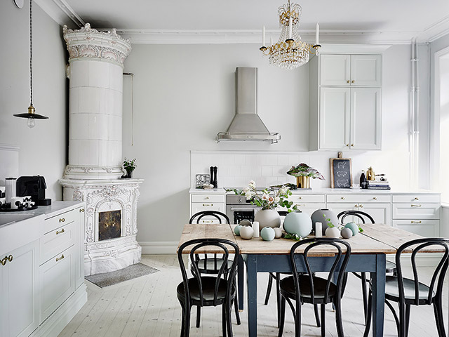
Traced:
POLYGON ((255 181, 250 180, 248 187, 243 190, 229 190, 234 191, 235 194, 244 195, 246 200, 251 204, 262 207, 262 209, 275 209, 276 207, 286 207, 289 212, 297 211, 297 206, 293 206, 293 201, 288 201, 288 196, 292 195, 290 188, 282 185, 279 190, 266 188, 262 191, 257 191, 255 188, 255 181), (293 207, 292 207, 293 206, 293 207))

